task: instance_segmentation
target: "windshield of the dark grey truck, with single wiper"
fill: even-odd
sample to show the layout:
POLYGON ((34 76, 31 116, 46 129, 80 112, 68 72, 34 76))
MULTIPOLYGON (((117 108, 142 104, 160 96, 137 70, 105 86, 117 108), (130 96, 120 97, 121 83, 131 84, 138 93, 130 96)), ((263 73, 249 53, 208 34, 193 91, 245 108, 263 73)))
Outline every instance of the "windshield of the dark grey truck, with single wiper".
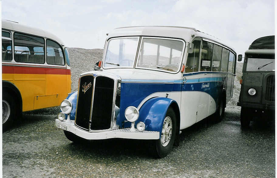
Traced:
POLYGON ((275 59, 248 58, 246 71, 274 71, 275 59))

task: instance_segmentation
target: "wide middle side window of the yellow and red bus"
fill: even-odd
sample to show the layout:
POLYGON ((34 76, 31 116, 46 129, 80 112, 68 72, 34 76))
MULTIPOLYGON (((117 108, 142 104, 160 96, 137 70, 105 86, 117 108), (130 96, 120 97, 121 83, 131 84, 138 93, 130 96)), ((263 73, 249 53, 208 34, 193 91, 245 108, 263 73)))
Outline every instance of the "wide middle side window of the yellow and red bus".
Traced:
POLYGON ((43 38, 14 33, 14 46, 14 59, 16 62, 44 64, 43 38))

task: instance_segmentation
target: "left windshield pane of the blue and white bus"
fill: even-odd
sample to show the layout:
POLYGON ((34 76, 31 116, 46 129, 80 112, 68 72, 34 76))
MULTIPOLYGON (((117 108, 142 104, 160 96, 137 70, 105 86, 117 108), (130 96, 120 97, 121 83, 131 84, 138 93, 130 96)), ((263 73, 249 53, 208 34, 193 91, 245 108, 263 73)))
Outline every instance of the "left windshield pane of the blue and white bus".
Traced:
POLYGON ((133 67, 139 37, 115 38, 108 41, 104 68, 133 67))

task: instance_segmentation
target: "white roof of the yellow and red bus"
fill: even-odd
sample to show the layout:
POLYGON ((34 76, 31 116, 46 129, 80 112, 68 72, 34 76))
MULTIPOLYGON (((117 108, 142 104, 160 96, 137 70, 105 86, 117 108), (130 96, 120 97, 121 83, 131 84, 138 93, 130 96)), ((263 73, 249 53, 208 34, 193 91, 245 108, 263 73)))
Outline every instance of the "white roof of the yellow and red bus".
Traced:
POLYGON ((18 22, 2 19, 2 29, 19 31, 30 35, 37 35, 41 37, 50 38, 64 45, 64 43, 56 35, 53 35, 52 33, 49 33, 39 28, 34 28, 34 27, 29 27, 26 25, 19 24, 18 22))

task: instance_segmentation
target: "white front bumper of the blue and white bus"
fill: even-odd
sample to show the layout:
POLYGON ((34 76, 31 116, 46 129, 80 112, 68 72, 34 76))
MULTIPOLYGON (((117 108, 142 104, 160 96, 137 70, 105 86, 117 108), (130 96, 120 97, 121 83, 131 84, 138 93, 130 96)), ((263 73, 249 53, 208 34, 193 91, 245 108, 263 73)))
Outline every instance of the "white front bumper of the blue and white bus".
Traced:
POLYGON ((115 129, 107 132, 87 132, 81 130, 75 126, 74 120, 64 120, 60 121, 56 119, 55 125, 58 127, 58 124, 66 126, 66 130, 72 132, 73 134, 82 137, 87 140, 102 140, 109 138, 128 138, 128 139, 143 139, 143 140, 156 140, 160 138, 160 133, 156 131, 130 131, 130 128, 125 129, 115 129))

